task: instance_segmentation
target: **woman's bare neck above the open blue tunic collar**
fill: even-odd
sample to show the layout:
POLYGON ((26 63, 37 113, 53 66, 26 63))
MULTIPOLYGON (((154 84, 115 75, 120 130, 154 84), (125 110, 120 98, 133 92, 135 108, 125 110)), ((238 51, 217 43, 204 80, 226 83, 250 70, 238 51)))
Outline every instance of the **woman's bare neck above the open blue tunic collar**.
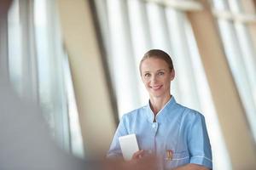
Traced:
POLYGON ((154 116, 166 105, 172 95, 168 94, 165 97, 150 97, 150 108, 154 112, 154 116))

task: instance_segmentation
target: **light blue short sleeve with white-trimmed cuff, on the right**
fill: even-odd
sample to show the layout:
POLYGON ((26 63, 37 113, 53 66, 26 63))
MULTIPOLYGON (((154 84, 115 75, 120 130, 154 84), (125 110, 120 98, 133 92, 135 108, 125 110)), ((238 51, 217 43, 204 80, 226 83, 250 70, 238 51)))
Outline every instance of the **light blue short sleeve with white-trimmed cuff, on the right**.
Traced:
POLYGON ((195 112, 188 133, 190 163, 212 169, 212 149, 204 116, 195 112))

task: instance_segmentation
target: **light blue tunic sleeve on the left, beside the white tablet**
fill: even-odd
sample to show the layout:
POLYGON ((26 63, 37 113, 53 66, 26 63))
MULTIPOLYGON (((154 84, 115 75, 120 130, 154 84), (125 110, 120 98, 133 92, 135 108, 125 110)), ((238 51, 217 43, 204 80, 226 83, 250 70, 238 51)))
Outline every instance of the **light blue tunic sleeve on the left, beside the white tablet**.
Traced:
POLYGON ((127 130, 125 128, 125 115, 122 116, 121 121, 119 122, 119 126, 117 127, 117 130, 113 136, 113 141, 110 144, 110 148, 108 150, 107 157, 108 158, 114 158, 122 156, 122 151, 119 144, 119 137, 125 136, 127 133, 127 130))

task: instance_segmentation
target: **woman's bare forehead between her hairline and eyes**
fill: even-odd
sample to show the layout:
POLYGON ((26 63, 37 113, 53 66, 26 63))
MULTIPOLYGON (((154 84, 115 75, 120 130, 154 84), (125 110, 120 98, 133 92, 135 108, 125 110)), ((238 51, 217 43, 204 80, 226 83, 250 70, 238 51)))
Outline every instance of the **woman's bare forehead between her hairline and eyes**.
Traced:
POLYGON ((168 70, 169 66, 164 59, 148 58, 143 60, 141 65, 142 71, 168 70))

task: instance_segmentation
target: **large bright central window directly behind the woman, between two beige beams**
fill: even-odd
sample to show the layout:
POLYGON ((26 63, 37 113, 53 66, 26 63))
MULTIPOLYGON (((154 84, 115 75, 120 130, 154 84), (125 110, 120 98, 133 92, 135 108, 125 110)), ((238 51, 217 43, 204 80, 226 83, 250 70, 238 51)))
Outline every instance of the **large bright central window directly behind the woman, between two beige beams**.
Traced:
POLYGON ((201 111, 206 117, 214 150, 214 169, 231 169, 207 77, 186 17, 186 10, 200 10, 201 4, 189 2, 96 1, 108 62, 112 68, 119 117, 147 104, 148 94, 140 80, 138 65, 148 49, 163 49, 172 55, 176 69, 172 94, 178 103, 201 111))

